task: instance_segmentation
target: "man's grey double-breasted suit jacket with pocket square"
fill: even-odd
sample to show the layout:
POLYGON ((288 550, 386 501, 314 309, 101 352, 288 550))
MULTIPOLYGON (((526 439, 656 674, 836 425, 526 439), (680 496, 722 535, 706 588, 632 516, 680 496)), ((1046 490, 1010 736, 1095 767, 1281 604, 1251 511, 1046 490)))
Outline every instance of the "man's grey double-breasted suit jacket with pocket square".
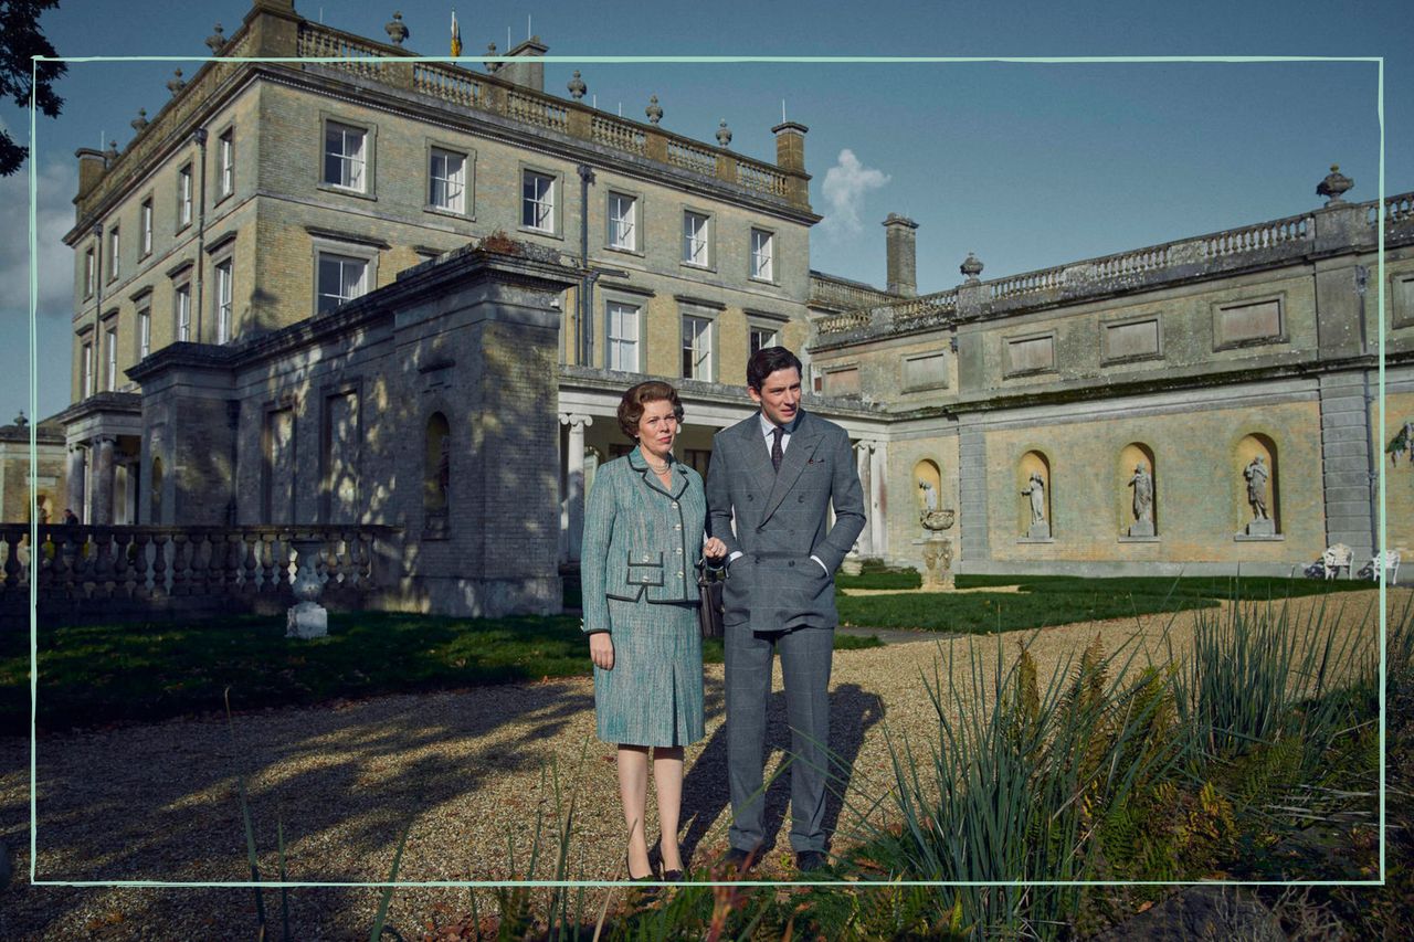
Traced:
POLYGON ((759 413, 718 431, 707 471, 707 506, 710 533, 727 543, 728 554, 742 553, 731 563, 723 591, 727 627, 788 631, 839 624, 834 570, 865 522, 844 429, 802 410, 779 472, 771 467, 759 413), (831 502, 834 526, 829 526, 831 502))

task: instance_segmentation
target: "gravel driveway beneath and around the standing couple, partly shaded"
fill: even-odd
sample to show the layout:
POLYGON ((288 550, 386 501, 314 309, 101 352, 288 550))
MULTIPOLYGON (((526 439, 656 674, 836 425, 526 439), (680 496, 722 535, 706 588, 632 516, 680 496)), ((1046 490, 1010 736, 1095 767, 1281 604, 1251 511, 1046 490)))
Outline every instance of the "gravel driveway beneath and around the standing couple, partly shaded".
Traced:
MULTIPOLYGON (((1390 594, 1396 610, 1410 597, 1406 590, 1390 594)), ((1319 601, 1294 604, 1299 617, 1319 601)), ((1335 595, 1331 603, 1340 607, 1342 624, 1363 627, 1370 635, 1376 604, 1374 591, 1335 595)), ((1134 642, 1162 661, 1165 629, 1182 651, 1193 618, 1185 612, 1014 632, 1000 636, 1000 648, 1010 661, 1015 639, 1031 639, 1045 679, 1056 665, 1077 658, 1097 632, 1106 651, 1134 642)), ((939 655, 945 658, 939 669, 946 669, 949 649, 957 669, 967 670, 967 649, 974 644, 983 668, 994 668, 998 636, 937 641, 923 635, 916 642, 836 652, 830 745, 850 764, 853 792, 878 795, 887 782, 885 726, 913 741, 936 733, 921 676, 933 676, 939 655)), ((1144 661, 1141 655, 1138 663, 1144 661)), ((707 668, 706 703, 707 738, 687 750, 683 799, 684 850, 700 863, 725 849, 728 823, 721 665, 707 668)), ((563 796, 577 795, 577 874, 617 878, 624 825, 614 750, 594 740, 592 710, 592 686, 584 678, 245 713, 236 716, 233 735, 216 717, 45 735, 37 757, 38 876, 249 880, 236 798, 240 771, 267 880, 277 874, 277 823, 284 830, 290 880, 385 880, 409 822, 400 881, 523 877, 536 812, 554 815, 556 777, 563 796), (515 868, 508 842, 515 843, 515 868)), ((779 673, 771 711, 768 772, 779 762, 788 735, 779 673)), ((0 938, 255 936, 249 888, 28 885, 28 741, 0 738, 0 840, 14 868, 0 891, 0 938)), ((789 822, 782 826, 786 785, 779 781, 768 795, 768 833, 775 833, 776 844, 761 870, 783 880, 793 873, 786 863, 789 822)), ((858 815, 837 806, 830 815, 840 849, 857 829, 858 815)), ((652 808, 649 822, 652 837, 652 808)), ((368 938, 378 898, 375 888, 291 890, 294 936, 368 938)), ((279 934, 279 892, 267 891, 264 905, 279 934)), ((433 912, 468 908, 465 888, 399 890, 390 919, 404 936, 416 938, 413 929, 433 912)))

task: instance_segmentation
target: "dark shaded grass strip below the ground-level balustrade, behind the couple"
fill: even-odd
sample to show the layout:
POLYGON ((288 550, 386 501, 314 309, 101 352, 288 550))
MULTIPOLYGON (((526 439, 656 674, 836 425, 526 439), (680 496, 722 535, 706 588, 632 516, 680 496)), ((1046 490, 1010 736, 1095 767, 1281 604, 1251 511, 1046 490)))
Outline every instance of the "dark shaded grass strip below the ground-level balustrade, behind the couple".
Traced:
MULTIPOLYGON (((571 617, 331 614, 329 636, 314 641, 287 639, 283 618, 41 628, 38 648, 38 721, 51 730, 219 710, 226 687, 246 710, 590 672, 571 617)), ((721 642, 703 655, 720 663, 721 642)), ((0 634, 0 733, 28 731, 28 632, 0 634)))

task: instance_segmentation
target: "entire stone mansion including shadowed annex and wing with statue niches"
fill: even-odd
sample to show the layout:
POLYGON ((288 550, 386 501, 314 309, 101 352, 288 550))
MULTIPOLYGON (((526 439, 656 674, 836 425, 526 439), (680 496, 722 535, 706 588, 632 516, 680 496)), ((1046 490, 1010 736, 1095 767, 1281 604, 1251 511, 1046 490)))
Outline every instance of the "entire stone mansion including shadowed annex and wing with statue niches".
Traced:
POLYGON ((1284 219, 994 280, 969 256, 926 294, 891 214, 875 289, 810 269, 803 124, 752 160, 656 99, 590 107, 578 72, 546 92, 539 38, 481 72, 387 31, 253 0, 124 149, 78 153, 57 419, 85 523, 378 525, 382 604, 557 610, 622 390, 677 385, 706 471, 779 342, 855 441, 864 557, 1299 573, 1373 553, 1381 463, 1384 543, 1414 545, 1414 194, 1332 170, 1284 219))

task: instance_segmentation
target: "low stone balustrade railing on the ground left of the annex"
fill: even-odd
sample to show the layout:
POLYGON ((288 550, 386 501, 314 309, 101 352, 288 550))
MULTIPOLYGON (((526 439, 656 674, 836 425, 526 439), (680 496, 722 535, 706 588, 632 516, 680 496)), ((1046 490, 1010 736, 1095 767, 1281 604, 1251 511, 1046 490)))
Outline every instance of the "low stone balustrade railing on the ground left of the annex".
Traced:
POLYGON ((180 598, 284 597, 301 547, 317 554, 325 590, 379 588, 375 545, 387 526, 65 526, 0 523, 0 603, 161 603, 180 598))

